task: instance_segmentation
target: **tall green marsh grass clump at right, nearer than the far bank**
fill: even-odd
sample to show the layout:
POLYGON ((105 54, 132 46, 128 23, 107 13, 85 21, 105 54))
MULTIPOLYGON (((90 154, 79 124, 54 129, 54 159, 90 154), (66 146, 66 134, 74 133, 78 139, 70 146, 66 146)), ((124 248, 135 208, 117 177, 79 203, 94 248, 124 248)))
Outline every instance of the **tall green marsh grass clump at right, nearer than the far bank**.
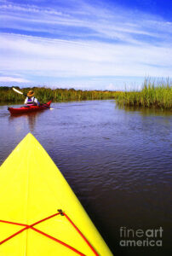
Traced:
POLYGON ((125 91, 118 95, 119 106, 135 106, 146 108, 172 108, 172 86, 169 79, 151 82, 145 79, 144 86, 140 91, 125 91))

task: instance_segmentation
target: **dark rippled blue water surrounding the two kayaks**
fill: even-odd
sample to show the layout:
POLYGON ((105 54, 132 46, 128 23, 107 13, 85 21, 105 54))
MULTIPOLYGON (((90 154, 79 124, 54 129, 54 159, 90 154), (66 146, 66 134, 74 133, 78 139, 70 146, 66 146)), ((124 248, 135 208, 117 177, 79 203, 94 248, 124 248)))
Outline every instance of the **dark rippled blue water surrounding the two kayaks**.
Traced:
POLYGON ((171 255, 172 115, 119 109, 114 101, 53 103, 52 108, 10 117, 7 106, 0 107, 0 163, 31 131, 112 253, 171 255), (163 247, 120 247, 120 227, 162 227, 163 247))

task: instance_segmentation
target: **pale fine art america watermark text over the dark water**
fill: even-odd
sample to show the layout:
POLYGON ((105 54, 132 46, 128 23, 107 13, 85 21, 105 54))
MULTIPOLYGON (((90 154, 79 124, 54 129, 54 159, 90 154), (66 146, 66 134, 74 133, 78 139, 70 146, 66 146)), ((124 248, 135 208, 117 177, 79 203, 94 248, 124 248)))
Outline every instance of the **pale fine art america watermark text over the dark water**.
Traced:
POLYGON ((162 247, 163 228, 149 230, 132 230, 121 227, 120 230, 121 247, 162 247))

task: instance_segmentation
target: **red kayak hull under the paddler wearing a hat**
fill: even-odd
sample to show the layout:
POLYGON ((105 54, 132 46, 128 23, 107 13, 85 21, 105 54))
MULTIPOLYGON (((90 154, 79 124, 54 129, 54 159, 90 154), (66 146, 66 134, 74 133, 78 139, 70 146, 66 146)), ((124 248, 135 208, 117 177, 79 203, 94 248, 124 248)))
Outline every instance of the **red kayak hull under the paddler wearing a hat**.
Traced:
POLYGON ((47 102, 45 104, 41 104, 40 106, 23 106, 20 108, 8 108, 8 110, 11 114, 30 113, 50 108, 51 102, 52 101, 47 102))

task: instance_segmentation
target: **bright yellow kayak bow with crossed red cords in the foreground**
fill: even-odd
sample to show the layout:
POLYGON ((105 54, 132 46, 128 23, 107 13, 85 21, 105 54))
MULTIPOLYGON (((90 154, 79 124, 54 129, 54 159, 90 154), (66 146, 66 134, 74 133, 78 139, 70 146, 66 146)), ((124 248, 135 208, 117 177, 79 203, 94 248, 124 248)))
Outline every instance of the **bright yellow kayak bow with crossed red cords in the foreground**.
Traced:
POLYGON ((0 168, 0 206, 2 256, 112 256, 31 133, 0 168))

